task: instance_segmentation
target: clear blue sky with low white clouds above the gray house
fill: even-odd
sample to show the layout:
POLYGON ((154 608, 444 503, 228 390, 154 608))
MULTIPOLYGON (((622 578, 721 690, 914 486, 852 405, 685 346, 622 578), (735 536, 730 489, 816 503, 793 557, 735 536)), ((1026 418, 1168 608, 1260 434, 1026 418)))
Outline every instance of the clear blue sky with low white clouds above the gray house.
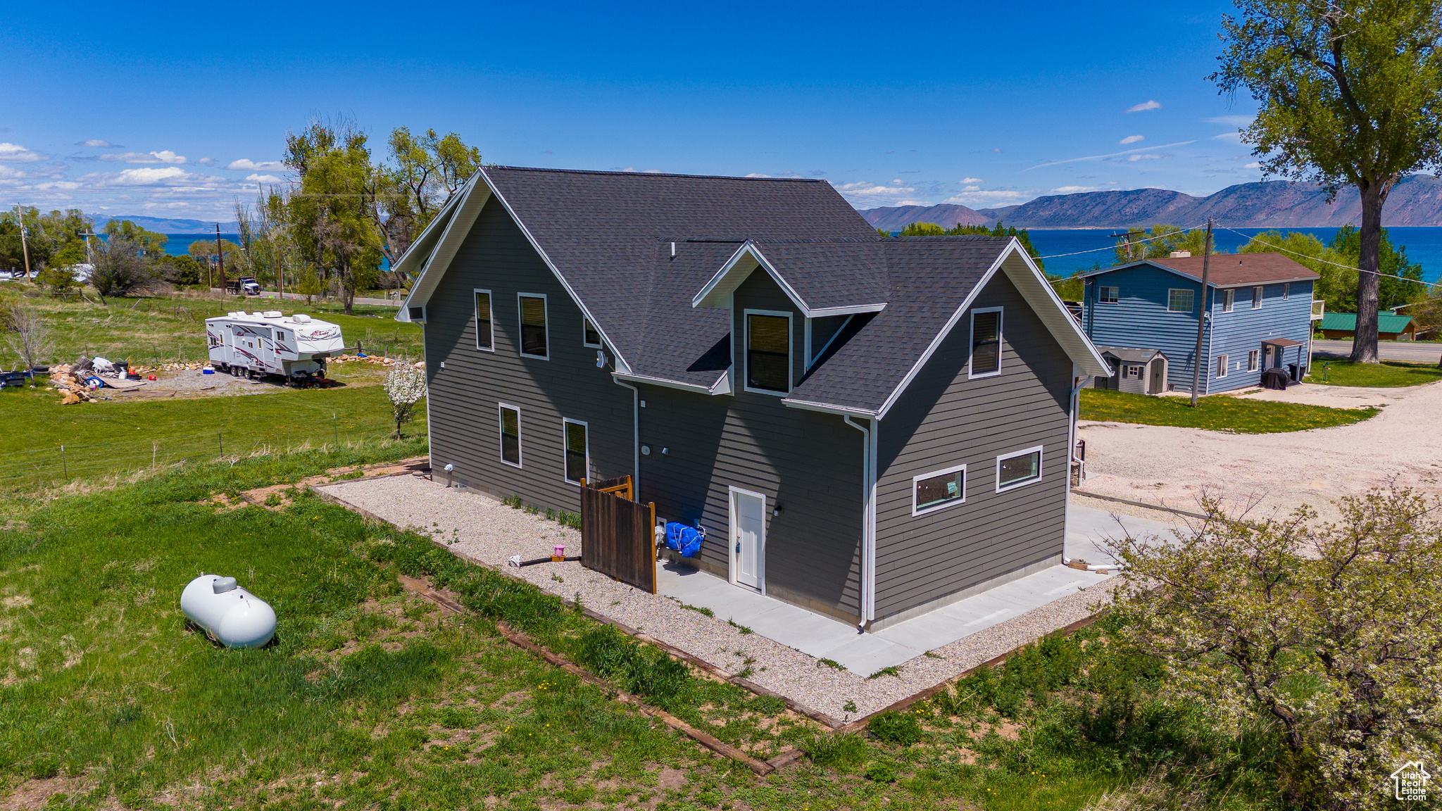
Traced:
POLYGON ((0 202, 215 218, 287 130, 518 166, 825 177, 858 208, 1257 180, 1229 3, 43 4, 0 20, 0 202))

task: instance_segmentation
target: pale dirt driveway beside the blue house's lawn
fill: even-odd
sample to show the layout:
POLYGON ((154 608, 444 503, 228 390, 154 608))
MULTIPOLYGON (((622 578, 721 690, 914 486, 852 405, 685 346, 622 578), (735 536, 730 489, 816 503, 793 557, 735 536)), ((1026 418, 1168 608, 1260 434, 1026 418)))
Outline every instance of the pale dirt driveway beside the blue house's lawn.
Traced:
POLYGON ((1080 423, 1087 444, 1083 491, 1195 509, 1213 494, 1229 507, 1263 511, 1327 504, 1394 479, 1442 495, 1442 382, 1406 388, 1296 385, 1249 398, 1288 400, 1381 413, 1351 426, 1280 434, 1080 423))

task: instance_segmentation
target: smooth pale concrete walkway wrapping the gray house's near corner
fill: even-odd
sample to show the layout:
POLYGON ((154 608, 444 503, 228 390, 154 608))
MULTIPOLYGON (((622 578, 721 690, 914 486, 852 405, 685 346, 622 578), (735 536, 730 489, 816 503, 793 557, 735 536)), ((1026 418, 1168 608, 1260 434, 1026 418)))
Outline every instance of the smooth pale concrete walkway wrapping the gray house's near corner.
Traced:
MULTIPOLYGON (((1089 507, 1073 505, 1067 517, 1066 556, 1089 563, 1110 563, 1110 556, 1102 551, 1107 538, 1123 537, 1128 532, 1133 537, 1169 538, 1172 528, 1169 524, 1126 515, 1115 517, 1089 507)), ((1115 574, 1053 566, 875 634, 859 634, 854 625, 764 597, 685 566, 665 566, 660 570, 658 592, 691 606, 711 609, 717 619, 730 619, 767 639, 867 675, 885 667, 900 665, 926 651, 942 648, 1112 577, 1115 574)))

